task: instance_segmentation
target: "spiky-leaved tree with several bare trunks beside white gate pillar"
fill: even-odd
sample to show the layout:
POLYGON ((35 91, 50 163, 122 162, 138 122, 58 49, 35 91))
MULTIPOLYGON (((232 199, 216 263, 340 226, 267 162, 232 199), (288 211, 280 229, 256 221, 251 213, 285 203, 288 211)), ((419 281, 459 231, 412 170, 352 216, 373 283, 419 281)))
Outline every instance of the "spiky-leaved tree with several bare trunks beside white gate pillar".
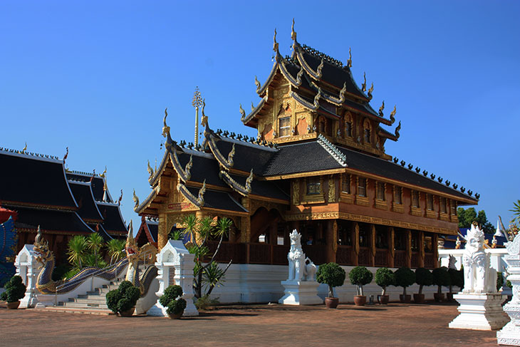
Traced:
POLYGON ((218 267, 217 261, 214 261, 215 256, 219 252, 222 240, 232 226, 232 220, 226 217, 219 218, 216 226, 213 226, 213 222, 211 217, 197 218, 194 214, 188 214, 182 219, 182 224, 185 226, 182 233, 189 237, 189 243, 191 244, 188 247, 188 251, 195 256, 193 288, 195 292, 194 296, 197 299, 202 298, 202 286, 204 284, 207 287, 204 296, 208 296, 215 286, 222 283, 224 274, 226 274, 227 269, 229 269, 233 261, 233 259, 230 260, 224 270, 218 267), (207 241, 210 238, 219 239, 219 244, 213 252, 211 259, 204 265, 204 258, 209 255, 207 241))

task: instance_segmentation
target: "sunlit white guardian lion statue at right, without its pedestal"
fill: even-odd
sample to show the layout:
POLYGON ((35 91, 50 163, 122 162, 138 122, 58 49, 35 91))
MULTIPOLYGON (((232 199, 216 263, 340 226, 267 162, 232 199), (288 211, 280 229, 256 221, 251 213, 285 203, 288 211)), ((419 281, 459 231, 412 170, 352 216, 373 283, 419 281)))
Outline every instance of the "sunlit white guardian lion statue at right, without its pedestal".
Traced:
POLYGON ((464 289, 462 293, 496 293, 496 271, 490 266, 490 254, 484 252, 484 232, 476 222, 467 232, 462 254, 464 289))

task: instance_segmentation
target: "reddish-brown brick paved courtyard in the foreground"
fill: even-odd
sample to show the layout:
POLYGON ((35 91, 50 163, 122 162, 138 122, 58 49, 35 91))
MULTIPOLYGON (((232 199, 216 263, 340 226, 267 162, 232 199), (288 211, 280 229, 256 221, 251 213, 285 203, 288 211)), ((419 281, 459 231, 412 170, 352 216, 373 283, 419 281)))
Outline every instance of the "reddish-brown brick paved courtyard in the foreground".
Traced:
POLYGON ((234 305, 199 317, 95 316, 0 303, 0 346, 497 346, 496 331, 450 329, 457 304, 234 305))

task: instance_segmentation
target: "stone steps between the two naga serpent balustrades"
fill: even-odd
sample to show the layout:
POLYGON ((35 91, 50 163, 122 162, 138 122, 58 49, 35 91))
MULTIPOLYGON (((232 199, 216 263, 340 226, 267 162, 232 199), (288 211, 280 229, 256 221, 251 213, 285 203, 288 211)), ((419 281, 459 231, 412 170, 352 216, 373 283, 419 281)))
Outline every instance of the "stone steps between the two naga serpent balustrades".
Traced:
POLYGON ((67 312, 74 314, 112 314, 108 309, 106 295, 113 289, 118 289, 123 279, 111 281, 94 291, 87 291, 87 294, 78 295, 76 298, 68 299, 68 301, 60 301, 56 306, 48 306, 45 311, 67 312))

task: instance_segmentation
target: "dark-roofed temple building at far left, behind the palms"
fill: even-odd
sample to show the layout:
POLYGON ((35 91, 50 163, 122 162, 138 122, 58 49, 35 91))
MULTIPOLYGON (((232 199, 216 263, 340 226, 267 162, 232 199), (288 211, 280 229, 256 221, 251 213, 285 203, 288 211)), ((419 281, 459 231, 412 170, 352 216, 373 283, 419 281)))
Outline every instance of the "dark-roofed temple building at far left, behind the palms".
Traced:
POLYGON ((38 226, 58 264, 66 261, 68 240, 75 235, 126 237, 120 200, 113 200, 108 191, 106 171, 70 171, 66 157, 0 148, 0 206, 14 218, 16 253, 34 242, 38 226))

